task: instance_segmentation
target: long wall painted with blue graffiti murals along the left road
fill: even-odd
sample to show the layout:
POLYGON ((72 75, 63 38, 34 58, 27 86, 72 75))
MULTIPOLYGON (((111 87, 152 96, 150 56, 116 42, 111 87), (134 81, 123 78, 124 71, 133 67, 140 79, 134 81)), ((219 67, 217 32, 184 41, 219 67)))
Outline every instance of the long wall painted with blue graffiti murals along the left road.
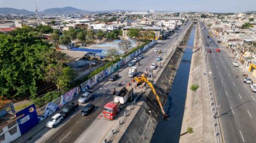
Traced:
POLYGON ((111 67, 108 67, 107 69, 103 70, 99 74, 96 74, 91 79, 83 82, 80 86, 75 87, 69 92, 62 95, 62 100, 60 101, 59 105, 56 105, 52 102, 48 103, 45 109, 44 116, 39 117, 39 120, 43 120, 47 118, 47 116, 51 115, 53 112, 57 111, 58 108, 63 107, 66 103, 69 103, 72 99, 76 98, 80 93, 86 92, 89 88, 92 88, 94 85, 99 83, 101 80, 103 80, 105 77, 107 77, 109 74, 112 74, 113 72, 117 71, 120 67, 124 66, 126 63, 130 62, 134 57, 141 54, 143 51, 147 50, 151 46, 153 46, 156 43, 156 41, 153 41, 143 48, 133 52, 131 55, 125 57, 124 59, 118 61, 117 63, 113 64, 111 67))

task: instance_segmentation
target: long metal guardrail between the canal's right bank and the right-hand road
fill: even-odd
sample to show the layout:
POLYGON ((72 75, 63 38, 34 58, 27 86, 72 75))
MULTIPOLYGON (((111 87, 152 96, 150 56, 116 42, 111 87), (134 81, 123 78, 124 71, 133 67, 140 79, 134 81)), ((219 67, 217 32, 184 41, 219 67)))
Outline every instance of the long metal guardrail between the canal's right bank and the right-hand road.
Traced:
MULTIPOLYGON (((199 24, 199 30, 202 30, 200 27, 200 23, 199 24)), ((216 108, 218 108, 216 105, 216 101, 215 101, 215 94, 214 94, 214 89, 212 88, 212 82, 211 82, 211 76, 209 74, 210 69, 209 69, 209 63, 208 63, 208 59, 207 59, 207 53, 205 53, 206 51, 206 46, 203 42, 203 33, 201 32, 201 38, 202 38, 202 47, 204 47, 204 49, 202 49, 203 51, 203 55, 204 55, 204 61, 205 61, 205 67, 206 67, 206 76, 207 76, 207 80, 208 80, 208 87, 209 87, 209 95, 210 95, 210 105, 212 107, 212 118, 214 118, 214 127, 215 127, 215 137, 216 137, 216 141, 222 143, 223 139, 222 139, 222 133, 221 133, 221 126, 220 126, 220 121, 218 120, 218 118, 216 118, 217 115, 217 111, 216 108)))

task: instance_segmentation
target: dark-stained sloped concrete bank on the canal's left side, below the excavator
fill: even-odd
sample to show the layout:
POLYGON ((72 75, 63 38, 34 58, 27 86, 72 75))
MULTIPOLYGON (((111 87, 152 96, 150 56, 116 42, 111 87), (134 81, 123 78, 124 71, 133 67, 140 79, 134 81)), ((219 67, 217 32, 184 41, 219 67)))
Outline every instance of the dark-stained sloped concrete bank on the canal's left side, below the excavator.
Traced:
MULTIPOLYGON (((187 43, 191 29, 192 27, 190 27, 180 44, 184 45, 187 43)), ((163 70, 161 70, 154 81, 152 81, 157 94, 160 96, 162 105, 164 105, 168 92, 172 87, 183 54, 184 49, 177 48, 173 50, 169 59, 166 61, 167 64, 164 64, 163 70)), ((140 101, 142 102, 139 104, 141 107, 138 109, 135 117, 131 120, 130 125, 127 126, 119 139, 116 138, 112 142, 150 142, 157 122, 162 120, 162 112, 156 97, 150 88, 146 90, 140 101)))

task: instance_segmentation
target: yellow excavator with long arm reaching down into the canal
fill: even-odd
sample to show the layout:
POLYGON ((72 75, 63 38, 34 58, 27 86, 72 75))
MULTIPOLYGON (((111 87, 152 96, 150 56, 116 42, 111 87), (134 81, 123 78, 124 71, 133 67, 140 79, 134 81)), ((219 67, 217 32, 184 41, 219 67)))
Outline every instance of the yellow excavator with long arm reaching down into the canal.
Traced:
POLYGON ((164 110, 163 110, 163 106, 162 106, 162 103, 161 103, 161 101, 160 101, 160 99, 159 99, 159 95, 157 95, 155 88, 153 87, 152 83, 147 79, 147 77, 142 74, 141 77, 135 77, 135 80, 136 80, 138 83, 142 83, 142 82, 148 83, 149 87, 152 89, 153 93, 154 93, 155 96, 156 96, 156 99, 157 99, 157 101, 158 101, 158 103, 159 103, 159 106, 160 106, 160 108, 161 108, 161 110, 162 110, 162 113, 163 113, 163 118, 164 118, 164 119, 168 118, 169 116, 166 115, 166 113, 165 113, 164 110))

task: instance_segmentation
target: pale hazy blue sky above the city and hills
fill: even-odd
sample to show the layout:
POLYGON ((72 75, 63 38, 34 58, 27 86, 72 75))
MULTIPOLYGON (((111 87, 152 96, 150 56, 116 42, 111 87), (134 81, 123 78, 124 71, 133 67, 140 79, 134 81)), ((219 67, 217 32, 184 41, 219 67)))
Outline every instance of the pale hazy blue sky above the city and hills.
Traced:
POLYGON ((168 10, 244 12, 256 10, 256 0, 0 0, 0 8, 34 11, 72 6, 82 10, 168 10))

